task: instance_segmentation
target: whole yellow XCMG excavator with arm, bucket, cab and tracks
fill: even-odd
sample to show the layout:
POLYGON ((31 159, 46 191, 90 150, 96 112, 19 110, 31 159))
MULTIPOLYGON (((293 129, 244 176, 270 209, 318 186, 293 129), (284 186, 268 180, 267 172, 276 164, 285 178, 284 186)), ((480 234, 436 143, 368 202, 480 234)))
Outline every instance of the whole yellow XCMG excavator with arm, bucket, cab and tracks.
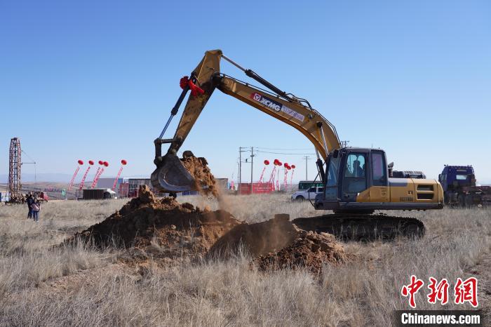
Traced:
MULTIPOLYGON (((314 208, 332 210, 333 214, 315 219, 297 218, 300 227, 316 232, 331 232, 338 236, 358 238, 383 231, 394 234, 394 229, 410 234, 424 234, 424 225, 415 218, 373 215, 375 210, 425 211, 443 208, 443 189, 437 180, 420 178, 391 178, 382 149, 343 147, 334 125, 309 101, 285 93, 251 69, 238 65, 220 50, 206 51, 199 65, 189 76, 181 79, 182 93, 171 110, 159 138, 154 140, 156 170, 151 175, 152 185, 161 192, 184 192, 196 189, 196 182, 177 157, 177 151, 196 123, 206 102, 215 89, 245 102, 292 126, 308 138, 316 149, 318 176, 324 192, 317 194, 314 208), (253 86, 220 72, 220 60, 226 60, 246 76, 261 84, 253 86), (187 93, 191 95, 182 112, 173 138, 163 138, 187 93), (162 155, 162 145, 170 144, 162 155), (360 232, 361 230, 361 232, 360 232), (351 234, 351 235, 349 235, 351 234)), ((183 156, 192 156, 185 151, 183 156)))

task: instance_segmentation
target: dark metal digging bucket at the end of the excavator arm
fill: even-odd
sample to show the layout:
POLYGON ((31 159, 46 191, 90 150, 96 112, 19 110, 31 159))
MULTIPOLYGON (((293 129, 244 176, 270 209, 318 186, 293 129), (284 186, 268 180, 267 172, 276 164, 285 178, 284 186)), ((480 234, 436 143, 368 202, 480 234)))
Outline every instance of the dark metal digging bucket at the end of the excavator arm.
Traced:
POLYGON ((151 176, 152 186, 161 192, 196 190, 196 182, 175 154, 166 154, 151 176))

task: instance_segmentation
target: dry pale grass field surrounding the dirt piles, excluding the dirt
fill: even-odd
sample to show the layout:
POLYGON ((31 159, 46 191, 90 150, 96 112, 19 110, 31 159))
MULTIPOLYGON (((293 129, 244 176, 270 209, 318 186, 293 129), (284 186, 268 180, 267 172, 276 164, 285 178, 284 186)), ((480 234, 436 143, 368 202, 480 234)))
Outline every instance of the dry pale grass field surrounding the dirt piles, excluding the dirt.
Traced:
MULTIPOLYGON (((217 203, 180 197, 201 208, 223 208, 258 222, 274 213, 320 215, 288 195, 226 196, 217 203)), ((25 206, 0 206, 1 326, 390 326, 395 309, 408 309, 401 286, 415 274, 446 278, 472 274, 480 307, 490 310, 491 210, 394 212, 419 218, 423 239, 343 242, 348 262, 306 270, 260 272, 247 255, 142 271, 121 261, 125 251, 56 246, 104 220, 126 201, 51 201, 40 222, 25 206)), ((439 309, 417 294, 418 309, 439 309)), ((452 299, 452 298, 451 298, 452 299)), ((468 305, 449 303, 444 309, 468 305)))

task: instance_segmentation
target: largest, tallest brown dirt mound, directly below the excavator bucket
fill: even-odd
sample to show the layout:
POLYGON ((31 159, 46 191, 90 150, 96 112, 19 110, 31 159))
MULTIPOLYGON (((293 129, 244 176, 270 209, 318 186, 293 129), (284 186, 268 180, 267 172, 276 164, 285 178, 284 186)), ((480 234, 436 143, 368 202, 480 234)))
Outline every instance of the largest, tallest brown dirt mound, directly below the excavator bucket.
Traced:
POLYGON ((96 246, 138 248, 154 256, 203 255, 222 235, 240 224, 227 211, 194 208, 166 197, 157 200, 146 185, 138 197, 74 239, 96 246))

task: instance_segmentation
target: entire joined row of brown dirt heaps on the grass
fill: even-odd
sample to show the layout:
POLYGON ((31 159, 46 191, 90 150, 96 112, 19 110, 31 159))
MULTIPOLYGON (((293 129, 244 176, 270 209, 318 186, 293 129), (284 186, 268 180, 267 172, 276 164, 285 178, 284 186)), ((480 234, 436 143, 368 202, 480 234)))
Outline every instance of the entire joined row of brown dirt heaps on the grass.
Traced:
POLYGON ((146 185, 138 197, 106 220, 65 243, 83 241, 99 248, 125 248, 120 260, 144 266, 183 258, 224 259, 244 250, 262 270, 303 266, 318 273, 323 263, 342 262, 344 249, 326 233, 306 232, 288 215, 248 224, 223 210, 201 210, 171 197, 156 199, 146 185))

